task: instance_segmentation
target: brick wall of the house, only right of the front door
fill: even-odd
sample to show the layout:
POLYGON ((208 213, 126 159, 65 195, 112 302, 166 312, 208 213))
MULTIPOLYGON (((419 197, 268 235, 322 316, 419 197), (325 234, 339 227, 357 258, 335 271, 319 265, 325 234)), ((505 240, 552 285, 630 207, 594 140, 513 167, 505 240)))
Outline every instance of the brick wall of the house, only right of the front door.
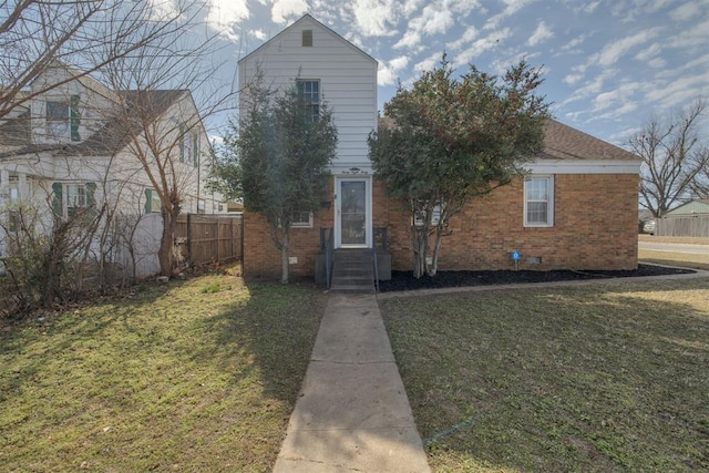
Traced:
MULTIPOLYGON (((637 267, 638 177, 630 174, 559 174, 554 178, 554 226, 524 227, 522 183, 473 202, 450 223, 439 269, 511 269, 511 251, 522 269, 635 269, 637 267), (530 264, 527 258, 541 258, 530 264)), ((410 270, 410 218, 391 212, 393 269, 410 270)))

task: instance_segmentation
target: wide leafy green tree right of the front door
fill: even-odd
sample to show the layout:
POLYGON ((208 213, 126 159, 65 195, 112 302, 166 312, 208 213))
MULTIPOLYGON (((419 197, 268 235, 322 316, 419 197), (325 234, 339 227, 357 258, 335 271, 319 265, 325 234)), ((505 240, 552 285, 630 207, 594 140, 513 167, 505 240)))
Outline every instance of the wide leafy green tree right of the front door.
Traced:
POLYGON ((541 71, 526 62, 502 78, 471 65, 460 79, 445 61, 384 105, 369 137, 376 176, 411 214, 413 275, 435 276, 448 224, 472 199, 524 176, 544 145, 541 71), (431 264, 427 256, 431 255, 431 264))

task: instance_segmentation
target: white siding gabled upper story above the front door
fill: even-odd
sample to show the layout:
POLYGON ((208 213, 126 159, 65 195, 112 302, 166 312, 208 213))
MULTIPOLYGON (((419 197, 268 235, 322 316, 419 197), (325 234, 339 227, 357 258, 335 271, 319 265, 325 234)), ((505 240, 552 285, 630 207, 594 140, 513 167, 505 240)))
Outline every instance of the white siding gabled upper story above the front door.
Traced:
POLYGON ((239 86, 259 71, 270 90, 292 86, 296 79, 319 81, 320 100, 338 127, 332 172, 371 172, 367 137, 377 127, 377 68, 374 59, 306 14, 239 61, 239 86), (306 44, 311 31, 312 45, 304 45, 304 31, 306 44))

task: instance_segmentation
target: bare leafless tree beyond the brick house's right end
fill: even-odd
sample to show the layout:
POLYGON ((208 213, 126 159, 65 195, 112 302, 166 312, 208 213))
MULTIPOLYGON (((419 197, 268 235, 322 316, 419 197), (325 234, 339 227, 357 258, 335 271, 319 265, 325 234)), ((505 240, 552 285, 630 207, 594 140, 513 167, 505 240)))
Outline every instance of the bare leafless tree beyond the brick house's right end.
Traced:
POLYGON ((706 110, 706 100, 697 99, 669 120, 651 119, 628 140, 631 151, 643 157, 640 205, 654 217, 661 217, 699 189, 709 166, 709 148, 702 145, 699 126, 706 110))

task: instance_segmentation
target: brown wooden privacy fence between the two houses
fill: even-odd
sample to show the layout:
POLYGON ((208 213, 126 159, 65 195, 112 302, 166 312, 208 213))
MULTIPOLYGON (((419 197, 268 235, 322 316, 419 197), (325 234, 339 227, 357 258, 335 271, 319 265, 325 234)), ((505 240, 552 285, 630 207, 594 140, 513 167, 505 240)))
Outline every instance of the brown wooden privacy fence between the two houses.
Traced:
POLYGON ((189 266, 242 259, 242 216, 186 214, 177 218, 177 244, 189 266))

